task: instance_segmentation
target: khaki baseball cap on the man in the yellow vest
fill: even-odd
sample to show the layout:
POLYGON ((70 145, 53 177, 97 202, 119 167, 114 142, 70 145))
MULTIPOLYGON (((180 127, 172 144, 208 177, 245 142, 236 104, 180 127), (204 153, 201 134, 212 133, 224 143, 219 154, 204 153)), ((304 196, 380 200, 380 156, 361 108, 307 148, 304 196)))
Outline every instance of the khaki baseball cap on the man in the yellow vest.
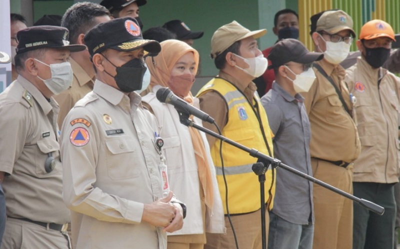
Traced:
POLYGON ((250 31, 235 20, 225 24, 219 27, 211 37, 211 58, 215 58, 235 41, 250 36, 256 39, 264 34, 266 34, 266 29, 250 31))

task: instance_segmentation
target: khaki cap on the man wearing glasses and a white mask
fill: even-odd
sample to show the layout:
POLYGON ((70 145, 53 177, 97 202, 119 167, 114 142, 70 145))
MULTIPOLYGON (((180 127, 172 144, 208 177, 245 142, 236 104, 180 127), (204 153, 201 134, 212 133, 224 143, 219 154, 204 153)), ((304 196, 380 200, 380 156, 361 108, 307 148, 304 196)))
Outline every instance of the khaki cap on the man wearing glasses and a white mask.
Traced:
POLYGON ((353 37, 353 19, 343 10, 325 11, 316 22, 315 31, 326 31, 330 34, 340 32, 341 30, 349 30, 353 37))

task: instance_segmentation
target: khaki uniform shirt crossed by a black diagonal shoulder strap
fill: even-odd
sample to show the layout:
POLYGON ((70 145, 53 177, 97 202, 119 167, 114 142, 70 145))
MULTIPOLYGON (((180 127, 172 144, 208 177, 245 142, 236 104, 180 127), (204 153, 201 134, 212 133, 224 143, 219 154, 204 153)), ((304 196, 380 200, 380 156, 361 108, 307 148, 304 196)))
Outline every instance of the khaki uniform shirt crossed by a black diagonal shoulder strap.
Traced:
MULTIPOLYGON (((343 82, 345 70, 324 59, 316 62, 330 76, 339 88, 351 111, 348 89, 343 82)), ((304 105, 311 124, 311 157, 346 162, 354 161, 360 152, 357 129, 333 85, 314 68, 316 79, 308 92, 302 92, 304 105)))

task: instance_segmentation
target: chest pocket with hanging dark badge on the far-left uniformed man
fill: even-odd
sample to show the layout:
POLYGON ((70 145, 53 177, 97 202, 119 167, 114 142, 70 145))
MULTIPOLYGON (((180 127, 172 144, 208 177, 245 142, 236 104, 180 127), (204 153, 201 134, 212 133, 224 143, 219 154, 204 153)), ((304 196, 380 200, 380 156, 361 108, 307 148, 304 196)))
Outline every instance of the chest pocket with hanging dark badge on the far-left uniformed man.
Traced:
POLYGON ((60 163, 58 142, 51 137, 46 137, 46 138, 42 138, 42 139, 38 140, 37 146, 39 149, 35 153, 35 156, 34 156, 37 176, 43 177, 43 176, 48 176, 48 175, 51 175, 51 174, 54 174, 55 172, 57 172, 59 170, 57 168, 57 164, 60 163), (49 157, 50 153, 51 153, 51 156, 55 160, 56 166, 50 172, 47 173, 44 165, 45 165, 45 161, 49 157))

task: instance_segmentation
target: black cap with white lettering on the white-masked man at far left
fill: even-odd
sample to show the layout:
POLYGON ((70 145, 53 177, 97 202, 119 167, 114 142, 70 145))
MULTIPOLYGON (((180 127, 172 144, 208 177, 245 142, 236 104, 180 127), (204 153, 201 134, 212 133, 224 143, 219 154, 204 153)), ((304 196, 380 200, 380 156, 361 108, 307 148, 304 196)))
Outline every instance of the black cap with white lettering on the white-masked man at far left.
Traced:
POLYGON ((85 45, 69 45, 68 29, 58 26, 32 26, 16 33, 16 54, 39 48, 63 48, 71 52, 84 50, 85 45))

